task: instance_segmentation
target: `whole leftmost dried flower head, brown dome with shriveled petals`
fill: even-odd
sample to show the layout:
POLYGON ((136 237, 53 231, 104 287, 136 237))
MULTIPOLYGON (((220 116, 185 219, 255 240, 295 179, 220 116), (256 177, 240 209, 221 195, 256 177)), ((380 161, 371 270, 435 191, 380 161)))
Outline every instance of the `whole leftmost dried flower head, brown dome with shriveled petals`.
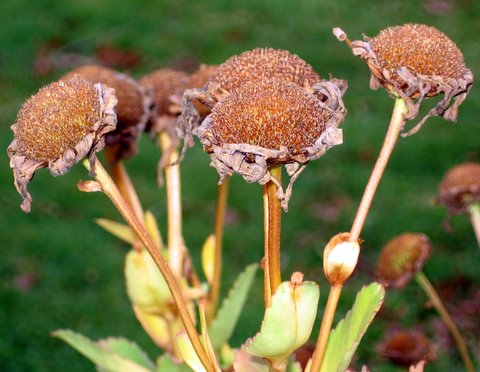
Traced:
POLYGON ((23 211, 30 211, 27 185, 38 168, 57 176, 86 156, 94 159, 105 134, 115 129, 116 104, 112 88, 79 76, 49 84, 23 104, 7 149, 23 211))

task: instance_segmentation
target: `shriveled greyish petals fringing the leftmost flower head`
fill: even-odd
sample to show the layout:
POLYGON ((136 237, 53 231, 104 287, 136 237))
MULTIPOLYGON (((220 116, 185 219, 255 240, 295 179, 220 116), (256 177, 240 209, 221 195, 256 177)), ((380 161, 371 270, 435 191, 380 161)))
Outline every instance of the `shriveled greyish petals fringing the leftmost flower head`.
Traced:
MULTIPOLYGON (((95 153, 105 145, 104 135, 115 129, 117 123, 115 90, 102 84, 95 84, 95 88, 100 100, 101 119, 94 123, 92 130, 82 141, 76 144, 73 149, 68 149, 60 158, 50 162, 28 159, 25 155, 19 153, 16 139, 8 146, 7 153, 10 157, 10 168, 13 169, 14 185, 23 198, 21 208, 24 212, 28 213, 31 210, 32 197, 27 186, 37 169, 48 167, 53 176, 58 176, 65 174, 85 156, 88 156, 90 162, 93 162, 95 153)), ((15 132, 15 125, 12 125, 12 130, 15 132)))

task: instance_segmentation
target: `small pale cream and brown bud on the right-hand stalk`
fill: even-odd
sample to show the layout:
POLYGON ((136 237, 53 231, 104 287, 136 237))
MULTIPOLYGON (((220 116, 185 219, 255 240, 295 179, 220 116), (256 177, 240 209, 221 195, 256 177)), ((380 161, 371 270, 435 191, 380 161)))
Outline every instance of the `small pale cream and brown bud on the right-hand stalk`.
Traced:
POLYGON ((348 241, 349 235, 335 235, 323 251, 323 272, 331 285, 343 285, 357 266, 360 244, 348 241))

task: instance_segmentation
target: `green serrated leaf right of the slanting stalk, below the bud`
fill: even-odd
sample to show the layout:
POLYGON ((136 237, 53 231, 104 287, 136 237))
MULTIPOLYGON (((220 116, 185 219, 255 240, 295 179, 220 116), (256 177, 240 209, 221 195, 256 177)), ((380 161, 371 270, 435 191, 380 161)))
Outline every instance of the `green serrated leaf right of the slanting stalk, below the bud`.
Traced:
POLYGON ((378 283, 363 287, 352 309, 330 334, 321 372, 345 371, 375 314, 382 306, 385 289, 378 283))

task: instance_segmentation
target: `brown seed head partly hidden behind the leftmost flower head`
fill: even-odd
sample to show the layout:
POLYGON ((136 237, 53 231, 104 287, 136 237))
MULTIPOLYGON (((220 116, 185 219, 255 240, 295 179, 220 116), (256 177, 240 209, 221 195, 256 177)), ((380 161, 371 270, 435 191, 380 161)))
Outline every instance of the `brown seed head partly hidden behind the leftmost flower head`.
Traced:
POLYGON ((108 67, 99 65, 87 65, 78 67, 60 80, 68 80, 75 74, 80 75, 85 80, 92 83, 102 83, 113 89, 118 99, 117 111, 117 130, 126 127, 135 126, 138 123, 145 125, 146 112, 144 100, 144 90, 132 78, 126 74, 119 73, 108 67))

